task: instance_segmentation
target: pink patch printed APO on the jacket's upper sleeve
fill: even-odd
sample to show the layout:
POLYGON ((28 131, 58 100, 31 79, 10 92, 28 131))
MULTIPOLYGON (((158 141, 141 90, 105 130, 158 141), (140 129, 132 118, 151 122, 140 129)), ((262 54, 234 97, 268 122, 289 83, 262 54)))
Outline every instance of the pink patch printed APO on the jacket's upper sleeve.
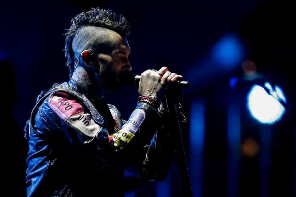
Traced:
POLYGON ((70 116, 84 111, 83 107, 75 100, 70 100, 66 93, 58 92, 49 98, 49 106, 64 121, 70 116), (66 98, 65 98, 66 97, 66 98))

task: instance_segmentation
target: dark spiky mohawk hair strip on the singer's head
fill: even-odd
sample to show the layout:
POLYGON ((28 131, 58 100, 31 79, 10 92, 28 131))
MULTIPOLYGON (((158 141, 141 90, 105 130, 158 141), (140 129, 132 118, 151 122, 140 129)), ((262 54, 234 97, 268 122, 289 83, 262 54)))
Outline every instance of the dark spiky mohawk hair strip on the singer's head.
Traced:
POLYGON ((113 30, 123 37, 130 35, 130 25, 121 14, 115 14, 113 10, 92 8, 86 12, 81 12, 71 19, 71 26, 68 29, 65 40, 66 65, 69 66, 70 77, 74 72, 74 53, 72 41, 83 26, 97 26, 113 30))

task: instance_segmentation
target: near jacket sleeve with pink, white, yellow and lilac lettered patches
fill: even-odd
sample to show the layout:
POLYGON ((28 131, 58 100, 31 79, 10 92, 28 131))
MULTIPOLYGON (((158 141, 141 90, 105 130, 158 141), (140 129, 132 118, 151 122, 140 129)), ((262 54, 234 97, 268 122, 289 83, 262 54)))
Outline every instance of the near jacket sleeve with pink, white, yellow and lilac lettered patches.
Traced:
POLYGON ((129 120, 110 135, 104 124, 94 121, 83 106, 64 92, 54 92, 48 98, 48 105, 43 106, 41 116, 59 143, 68 144, 92 162, 125 165, 163 127, 157 110, 147 103, 138 103, 129 120))

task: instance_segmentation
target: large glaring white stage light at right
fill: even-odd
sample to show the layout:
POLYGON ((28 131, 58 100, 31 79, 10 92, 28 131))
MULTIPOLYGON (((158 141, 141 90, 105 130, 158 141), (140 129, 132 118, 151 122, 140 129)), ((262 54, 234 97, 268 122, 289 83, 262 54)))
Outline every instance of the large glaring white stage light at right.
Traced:
MULTIPOLYGON (((269 83, 268 85, 265 83, 265 87, 267 86, 269 90, 272 90, 271 92, 275 93, 276 91, 269 85, 269 83)), ((285 107, 278 101, 279 98, 285 98, 283 92, 280 92, 282 95, 272 94, 272 96, 268 94, 263 87, 254 85, 247 97, 247 107, 253 118, 265 124, 273 124, 280 120, 285 112, 285 107)))

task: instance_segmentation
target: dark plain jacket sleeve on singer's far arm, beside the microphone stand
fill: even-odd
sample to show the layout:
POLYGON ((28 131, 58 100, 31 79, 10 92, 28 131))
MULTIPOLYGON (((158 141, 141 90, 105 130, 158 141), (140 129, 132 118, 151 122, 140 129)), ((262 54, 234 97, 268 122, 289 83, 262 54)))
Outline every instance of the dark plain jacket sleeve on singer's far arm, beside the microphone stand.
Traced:
MULTIPOLYGON (((178 108, 180 123, 186 122, 186 118, 178 108)), ((177 134, 172 132, 168 115, 163 115, 164 126, 154 134, 149 145, 145 145, 142 152, 134 157, 128 171, 152 181, 162 181, 167 178, 173 156, 177 149, 177 134)))

